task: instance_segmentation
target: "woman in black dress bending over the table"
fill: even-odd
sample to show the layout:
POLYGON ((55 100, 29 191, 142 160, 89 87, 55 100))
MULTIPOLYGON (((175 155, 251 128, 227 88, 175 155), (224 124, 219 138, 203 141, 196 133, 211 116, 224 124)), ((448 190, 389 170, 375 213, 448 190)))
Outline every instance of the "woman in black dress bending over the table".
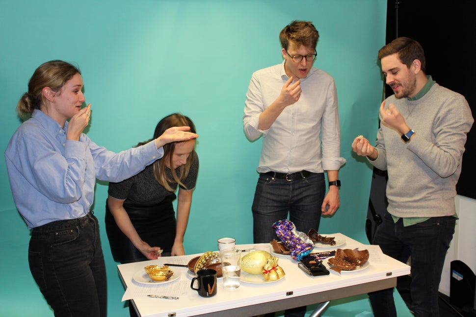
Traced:
MULTIPOLYGON (((154 137, 171 126, 189 126, 196 132, 189 118, 175 113, 160 120, 154 137)), ((163 157, 144 171, 109 183, 106 232, 115 261, 153 260, 162 252, 185 255, 184 235, 198 174, 194 147, 195 140, 169 143, 163 146, 163 157), (172 202, 177 197, 176 218, 172 202)))

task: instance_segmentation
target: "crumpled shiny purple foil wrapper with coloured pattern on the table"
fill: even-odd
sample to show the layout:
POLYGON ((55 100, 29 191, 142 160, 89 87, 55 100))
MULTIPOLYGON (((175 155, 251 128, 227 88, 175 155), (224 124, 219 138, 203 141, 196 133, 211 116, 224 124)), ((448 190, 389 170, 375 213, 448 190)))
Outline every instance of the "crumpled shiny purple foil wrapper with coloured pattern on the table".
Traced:
POLYGON ((273 228, 279 240, 291 250, 294 260, 301 260, 313 250, 313 241, 304 232, 297 231, 294 223, 288 219, 274 222, 273 228))

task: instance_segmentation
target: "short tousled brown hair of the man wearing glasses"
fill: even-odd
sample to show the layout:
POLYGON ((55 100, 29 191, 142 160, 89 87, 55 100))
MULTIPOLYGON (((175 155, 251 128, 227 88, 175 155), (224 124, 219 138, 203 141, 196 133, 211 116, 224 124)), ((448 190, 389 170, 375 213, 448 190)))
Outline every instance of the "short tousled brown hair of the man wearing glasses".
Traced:
POLYGON ((283 49, 289 48, 290 41, 316 49, 319 32, 312 22, 295 20, 281 30, 279 40, 283 49))

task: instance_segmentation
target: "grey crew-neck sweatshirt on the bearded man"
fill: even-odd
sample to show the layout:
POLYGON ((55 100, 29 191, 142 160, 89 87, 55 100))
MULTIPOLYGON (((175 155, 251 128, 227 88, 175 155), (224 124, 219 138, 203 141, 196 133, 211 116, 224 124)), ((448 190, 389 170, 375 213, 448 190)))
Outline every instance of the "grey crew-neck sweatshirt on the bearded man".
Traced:
POLYGON ((466 99, 434 84, 418 100, 390 96, 415 135, 405 143, 394 129, 381 126, 370 163, 388 171, 388 211, 397 217, 455 214, 454 196, 461 173, 466 134, 474 122, 466 99))

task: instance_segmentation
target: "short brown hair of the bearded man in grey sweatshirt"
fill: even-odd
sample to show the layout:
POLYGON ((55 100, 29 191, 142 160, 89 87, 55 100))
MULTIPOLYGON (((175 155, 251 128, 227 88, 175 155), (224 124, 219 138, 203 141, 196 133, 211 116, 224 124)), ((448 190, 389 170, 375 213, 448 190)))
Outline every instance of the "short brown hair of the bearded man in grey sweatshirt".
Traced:
POLYGON ((418 59, 422 63, 422 71, 426 72, 426 60, 423 47, 417 41, 409 37, 398 37, 378 51, 378 59, 398 54, 398 59, 408 68, 413 61, 418 59))

